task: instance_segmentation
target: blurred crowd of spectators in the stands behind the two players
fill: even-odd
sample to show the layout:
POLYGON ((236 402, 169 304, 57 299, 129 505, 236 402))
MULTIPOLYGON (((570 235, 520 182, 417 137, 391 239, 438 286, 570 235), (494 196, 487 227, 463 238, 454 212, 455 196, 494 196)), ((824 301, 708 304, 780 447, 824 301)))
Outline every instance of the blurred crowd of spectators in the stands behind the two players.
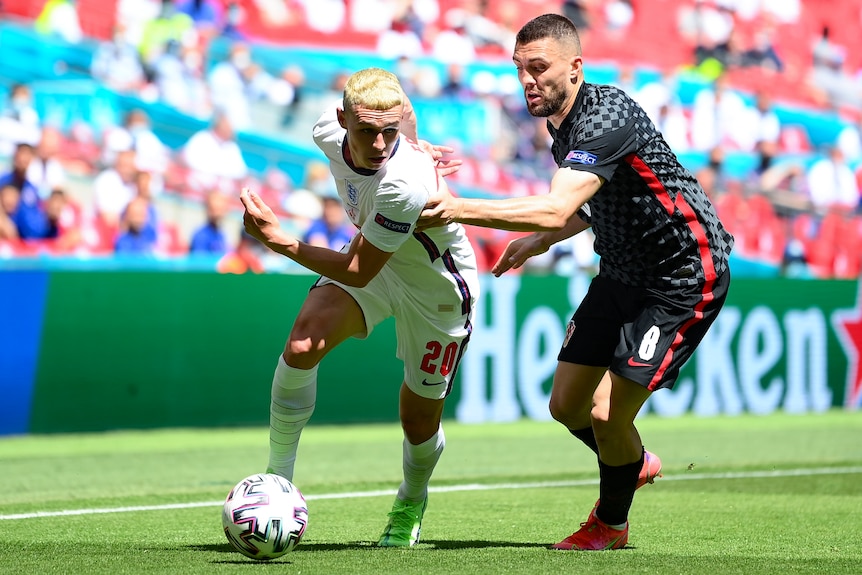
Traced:
MULTIPOLYGON (((304 130, 308 118, 338 98, 349 72, 325 79, 321 91, 308 85, 310 78, 321 81, 314 70, 293 63, 268 69, 255 58, 261 26, 302 29, 336 45, 344 37, 365 42, 363 49, 393 62, 413 98, 490 103, 502 119, 500 137, 488 147, 460 146, 465 163, 452 186, 544 193, 553 168, 544 120, 526 113, 514 75, 469 71, 483 59, 508 59, 523 21, 557 11, 579 25, 589 61, 613 59, 614 82, 677 153, 707 158, 696 175, 736 236, 739 255, 789 274, 858 276, 862 41, 836 34, 831 20, 809 22, 826 10, 816 2, 661 3, 667 10, 645 0, 119 0, 112 37, 93 55, 93 78, 206 125, 176 149, 159 139, 141 109, 103 133, 86 125, 64 132, 42 121, 28 85, 11 86, 0 110, 0 158, 8 158, 0 177, 0 249, 206 255, 223 258, 228 271, 260 271, 264 256, 238 222, 236 196, 245 185, 259 189, 308 241, 336 248, 349 241, 352 230, 325 165, 307 166, 305 181, 296 183, 276 168, 250 170, 243 158, 237 131, 272 131, 273 123, 285 134, 292 126, 304 130), (644 27, 659 23, 673 31, 653 43, 661 53, 635 49, 644 27), (211 50, 217 39, 225 51, 211 50), (428 58, 442 65, 423 64, 428 58), (680 80, 692 77, 705 87, 683 102, 680 80), (804 127, 780 120, 778 104, 828 111, 844 128, 815 146, 804 127), (739 155, 752 159, 742 175, 727 169, 739 155), (175 198, 191 202, 191 217, 174 217, 175 198)), ((833 11, 838 4, 848 3, 833 11)), ((33 26, 80 42, 82 16, 73 0, 50 0, 33 26)), ((858 6, 854 16, 847 25, 858 30, 858 6)), ((512 237, 471 234, 485 269, 512 237)), ((594 267, 589 234, 582 236, 531 262, 533 269, 594 267)))

